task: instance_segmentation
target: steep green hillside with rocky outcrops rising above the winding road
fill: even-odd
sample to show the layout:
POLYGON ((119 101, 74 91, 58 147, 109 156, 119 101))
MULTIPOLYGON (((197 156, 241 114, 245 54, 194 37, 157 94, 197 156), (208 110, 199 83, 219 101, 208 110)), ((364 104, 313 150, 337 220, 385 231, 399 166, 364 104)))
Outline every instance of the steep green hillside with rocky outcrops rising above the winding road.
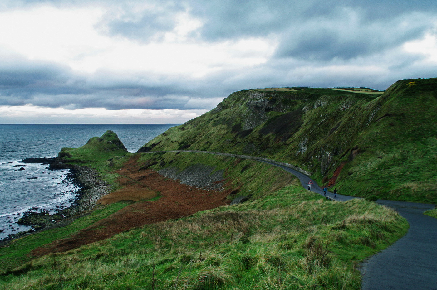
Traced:
POLYGON ((368 89, 232 93, 138 152, 207 150, 287 162, 343 193, 436 201, 437 79, 368 89))

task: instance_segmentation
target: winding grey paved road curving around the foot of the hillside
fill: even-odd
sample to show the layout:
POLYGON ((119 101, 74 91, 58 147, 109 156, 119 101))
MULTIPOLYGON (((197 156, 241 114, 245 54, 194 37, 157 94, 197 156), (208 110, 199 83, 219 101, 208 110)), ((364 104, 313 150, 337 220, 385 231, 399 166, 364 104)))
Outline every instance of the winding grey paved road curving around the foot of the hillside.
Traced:
MULTIPOLYGON (((174 150, 162 152, 194 152, 234 156, 265 162, 296 176, 307 188, 309 180, 305 170, 284 162, 254 156, 197 150, 174 150)), ((157 152, 149 152, 157 153, 157 152)), ((311 190, 323 195, 323 190, 312 180, 311 190)), ((329 198, 346 201, 357 197, 328 192, 329 198)), ((434 204, 419 204, 405 201, 377 200, 378 204, 394 208, 408 221, 410 228, 405 236, 387 249, 373 255, 361 265, 363 290, 437 290, 437 218, 423 212, 434 204)))

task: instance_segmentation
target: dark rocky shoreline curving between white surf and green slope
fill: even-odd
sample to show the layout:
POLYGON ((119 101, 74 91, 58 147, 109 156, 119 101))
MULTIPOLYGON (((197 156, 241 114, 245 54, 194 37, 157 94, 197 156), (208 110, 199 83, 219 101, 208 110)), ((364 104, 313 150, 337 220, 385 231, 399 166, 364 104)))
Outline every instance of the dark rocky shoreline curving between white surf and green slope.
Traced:
MULTIPOLYGON (((70 169, 69 180, 80 187, 76 193, 76 199, 69 207, 58 210, 55 213, 48 211, 29 212, 24 214, 20 223, 31 226, 28 231, 21 231, 10 235, 0 241, 0 246, 7 246, 10 242, 17 238, 22 238, 27 235, 32 235, 37 232, 44 231, 50 228, 59 228, 70 224, 78 217, 87 215, 96 207, 96 201, 111 191, 111 185, 103 181, 98 172, 88 166, 71 165, 56 161, 53 159, 31 158, 23 159, 28 163, 48 164, 50 170, 55 169, 70 169)), ((23 162, 26 163, 26 162, 23 162)))

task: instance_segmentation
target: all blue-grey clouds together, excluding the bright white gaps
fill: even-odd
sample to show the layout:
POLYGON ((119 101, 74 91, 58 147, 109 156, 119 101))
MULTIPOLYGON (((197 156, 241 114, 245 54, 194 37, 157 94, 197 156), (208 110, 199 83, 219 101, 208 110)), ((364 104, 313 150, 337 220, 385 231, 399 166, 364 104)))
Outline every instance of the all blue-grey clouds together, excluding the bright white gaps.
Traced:
POLYGON ((114 72, 78 75, 66 66, 16 58, 0 67, 0 105, 211 109, 215 104, 193 104, 192 100, 274 86, 384 90, 398 79, 435 76, 435 66, 420 66, 419 56, 397 51, 406 41, 420 39, 434 28, 435 0, 4 0, 0 9, 44 3, 62 8, 104 7, 107 12, 97 24, 99 31, 143 43, 173 31, 176 16, 186 12, 203 24, 190 35, 193 42, 208 45, 274 37, 278 44, 271 59, 262 65, 223 68, 201 79, 168 77, 140 82, 137 79, 147 76, 138 72, 123 77, 114 72), (150 5, 143 7, 142 3, 150 5), (339 66, 357 69, 336 70, 339 66), (385 69, 378 71, 378 66, 385 69))

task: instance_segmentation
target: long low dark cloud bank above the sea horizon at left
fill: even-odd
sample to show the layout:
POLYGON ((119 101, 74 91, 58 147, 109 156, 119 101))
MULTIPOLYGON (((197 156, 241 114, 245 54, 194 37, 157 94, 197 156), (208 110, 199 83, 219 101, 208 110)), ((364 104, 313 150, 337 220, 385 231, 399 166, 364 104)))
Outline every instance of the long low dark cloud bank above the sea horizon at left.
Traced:
MULTIPOLYGON (((118 80, 111 73, 79 76, 68 67, 15 58, 0 68, 0 105, 32 104, 80 109, 193 109, 187 106, 199 92, 170 83, 136 83, 118 80)), ((138 76, 132 76, 137 79, 138 76)))

